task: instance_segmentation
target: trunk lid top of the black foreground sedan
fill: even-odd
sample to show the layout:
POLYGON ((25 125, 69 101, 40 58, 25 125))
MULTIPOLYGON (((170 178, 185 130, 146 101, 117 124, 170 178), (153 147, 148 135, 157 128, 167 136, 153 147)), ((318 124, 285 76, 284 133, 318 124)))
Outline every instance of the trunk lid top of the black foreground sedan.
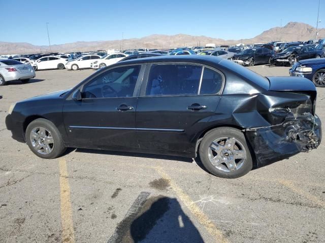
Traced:
POLYGON ((270 91, 316 91, 315 85, 305 77, 273 76, 270 81, 270 91))

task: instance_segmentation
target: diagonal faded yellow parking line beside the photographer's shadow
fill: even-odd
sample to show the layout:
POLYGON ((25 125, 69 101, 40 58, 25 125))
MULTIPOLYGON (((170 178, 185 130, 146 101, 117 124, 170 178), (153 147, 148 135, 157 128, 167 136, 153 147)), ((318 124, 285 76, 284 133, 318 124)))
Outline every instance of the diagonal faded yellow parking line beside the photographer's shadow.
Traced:
POLYGON ((215 242, 228 243, 229 240, 222 234, 221 230, 205 215, 201 209, 193 203, 189 195, 187 195, 166 172, 160 168, 155 167, 156 172, 165 180, 170 181, 170 185, 176 192, 178 198, 188 208, 188 210, 199 220, 199 222, 207 229, 207 231, 215 238, 215 242))

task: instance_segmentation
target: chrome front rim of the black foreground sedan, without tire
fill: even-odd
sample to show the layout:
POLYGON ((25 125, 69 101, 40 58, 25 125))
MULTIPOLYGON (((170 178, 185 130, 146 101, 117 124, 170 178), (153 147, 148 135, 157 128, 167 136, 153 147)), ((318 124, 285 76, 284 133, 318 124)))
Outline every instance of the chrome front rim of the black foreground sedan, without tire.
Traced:
POLYGON ((31 130, 30 142, 32 147, 41 154, 49 154, 54 149, 54 139, 51 132, 42 127, 36 127, 31 130))

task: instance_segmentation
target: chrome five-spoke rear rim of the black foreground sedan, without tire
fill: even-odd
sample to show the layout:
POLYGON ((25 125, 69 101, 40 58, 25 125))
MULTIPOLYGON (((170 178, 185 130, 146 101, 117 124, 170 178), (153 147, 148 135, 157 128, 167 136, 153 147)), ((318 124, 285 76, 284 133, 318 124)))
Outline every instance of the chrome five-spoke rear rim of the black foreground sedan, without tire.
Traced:
POLYGON ((223 172, 239 170, 246 162, 246 149, 236 138, 215 139, 208 148, 210 163, 223 172))

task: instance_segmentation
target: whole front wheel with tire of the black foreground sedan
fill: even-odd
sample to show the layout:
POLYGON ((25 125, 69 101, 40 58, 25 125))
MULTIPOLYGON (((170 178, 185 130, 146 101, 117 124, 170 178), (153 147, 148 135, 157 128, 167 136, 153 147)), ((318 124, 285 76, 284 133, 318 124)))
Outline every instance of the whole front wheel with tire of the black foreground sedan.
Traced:
POLYGON ((56 158, 66 151, 60 132, 47 119, 39 118, 33 120, 27 126, 25 134, 29 149, 41 158, 56 158), (41 131, 44 131, 43 129, 45 133, 42 134, 41 131), (52 141, 53 143, 51 143, 52 141), (49 146, 48 150, 45 149, 47 145, 49 146), (38 148, 40 149, 38 150, 38 148))

